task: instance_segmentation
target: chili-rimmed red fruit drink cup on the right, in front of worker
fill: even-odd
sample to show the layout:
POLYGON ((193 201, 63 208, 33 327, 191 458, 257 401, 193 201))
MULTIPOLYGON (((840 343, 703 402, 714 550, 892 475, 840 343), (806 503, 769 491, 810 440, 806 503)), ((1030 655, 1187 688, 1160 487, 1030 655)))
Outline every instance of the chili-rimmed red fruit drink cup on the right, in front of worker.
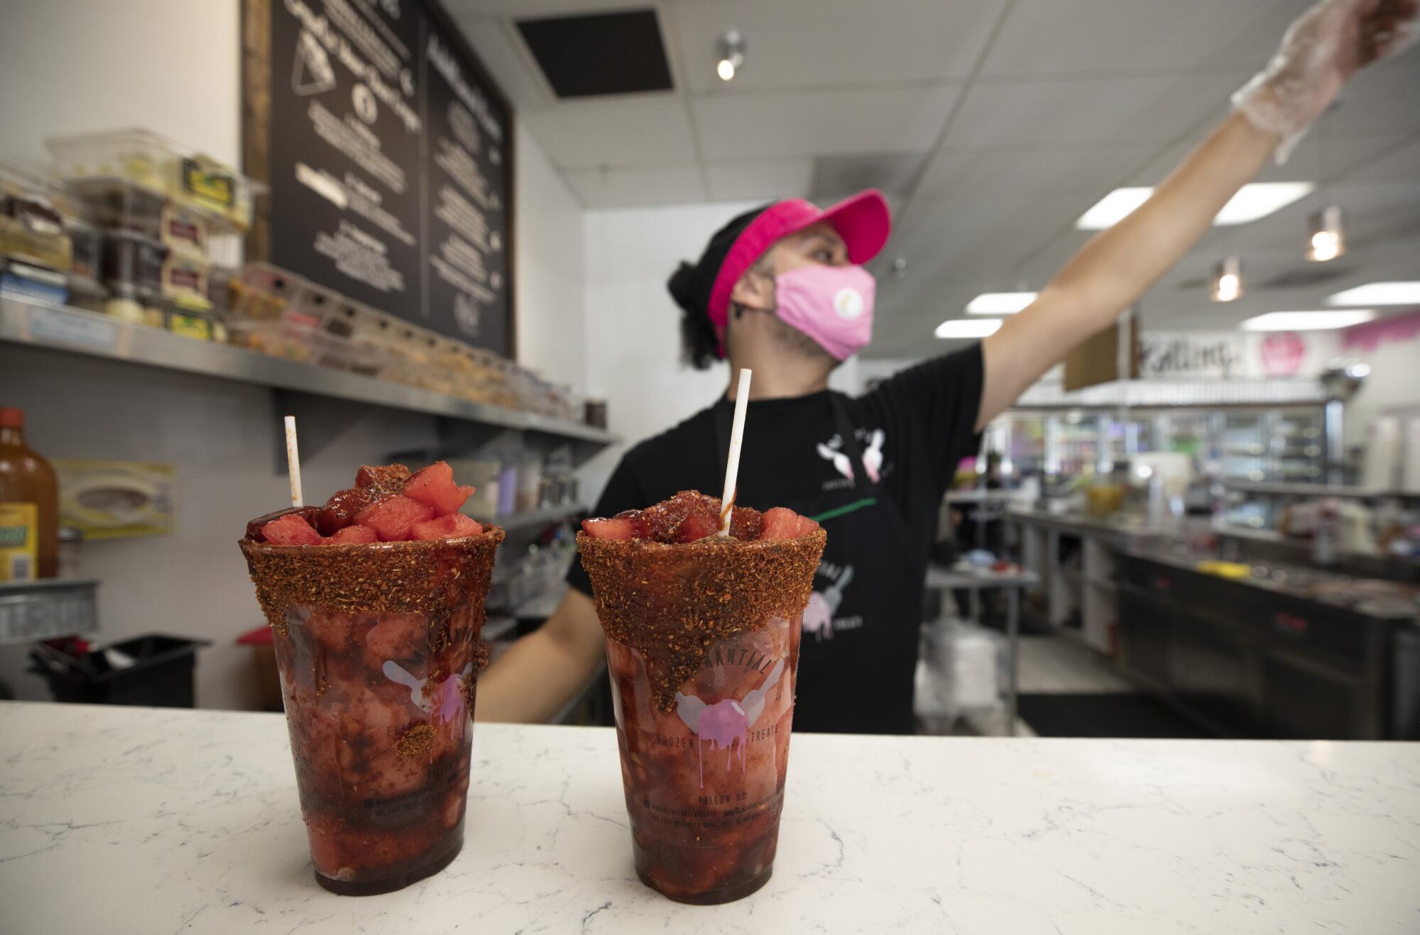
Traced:
POLYGON ((696 492, 589 519, 592 579, 640 880, 728 902, 770 878, 788 766, 799 624, 826 533, 788 509, 696 492))

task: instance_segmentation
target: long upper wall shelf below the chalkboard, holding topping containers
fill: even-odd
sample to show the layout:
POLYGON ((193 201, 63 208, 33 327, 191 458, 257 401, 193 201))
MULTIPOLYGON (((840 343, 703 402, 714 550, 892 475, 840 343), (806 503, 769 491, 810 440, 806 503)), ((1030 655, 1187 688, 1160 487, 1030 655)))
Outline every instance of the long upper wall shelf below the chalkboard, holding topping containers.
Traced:
POLYGON ((0 341, 371 406, 389 406, 484 426, 535 431, 574 441, 602 446, 621 441, 609 431, 581 423, 471 403, 348 370, 332 370, 231 345, 182 338, 158 328, 133 325, 75 308, 30 302, 13 295, 0 297, 0 341))

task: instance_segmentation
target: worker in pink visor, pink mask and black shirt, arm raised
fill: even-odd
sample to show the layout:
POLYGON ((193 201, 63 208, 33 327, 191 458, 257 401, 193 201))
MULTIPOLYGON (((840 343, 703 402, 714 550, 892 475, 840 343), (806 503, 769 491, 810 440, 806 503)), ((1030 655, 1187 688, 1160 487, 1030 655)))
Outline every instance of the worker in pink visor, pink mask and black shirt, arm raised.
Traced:
MULTIPOLYGON (((873 277, 888 206, 863 192, 826 210, 774 201, 716 231, 669 289, 686 356, 754 370, 738 502, 790 507, 828 529, 805 614, 795 731, 913 729, 923 576, 939 504, 978 433, 1051 366, 1110 326, 1208 228, 1272 155, 1367 62, 1416 37, 1416 0, 1323 0, 1240 89, 1234 112, 1133 214, 1092 238, 1035 302, 964 350, 849 397, 828 376, 872 336, 873 277), (870 699, 870 704, 865 704, 870 699)), ((622 458, 595 515, 682 489, 719 491, 736 397, 724 397, 622 458)), ((579 563, 558 610, 479 680, 477 714, 545 721, 591 678, 604 636, 579 563)))

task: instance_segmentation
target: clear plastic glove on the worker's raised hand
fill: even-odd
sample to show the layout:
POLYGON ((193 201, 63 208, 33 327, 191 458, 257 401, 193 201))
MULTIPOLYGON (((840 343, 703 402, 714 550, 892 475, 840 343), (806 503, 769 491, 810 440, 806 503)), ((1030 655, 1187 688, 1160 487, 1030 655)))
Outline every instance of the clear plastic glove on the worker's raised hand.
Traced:
POLYGON ((1352 75, 1420 38, 1417 16, 1417 0, 1321 0, 1287 30, 1267 68, 1233 95, 1233 109, 1282 138, 1282 165, 1352 75))

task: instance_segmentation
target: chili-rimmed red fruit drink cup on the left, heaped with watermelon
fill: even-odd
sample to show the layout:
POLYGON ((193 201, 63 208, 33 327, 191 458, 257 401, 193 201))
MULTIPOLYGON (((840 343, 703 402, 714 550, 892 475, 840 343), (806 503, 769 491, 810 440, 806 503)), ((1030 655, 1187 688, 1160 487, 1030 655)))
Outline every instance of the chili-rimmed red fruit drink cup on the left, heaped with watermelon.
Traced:
POLYGON ((413 477, 361 468, 325 507, 256 519, 240 543, 274 630, 327 890, 399 890, 463 846, 479 634, 503 541, 454 512, 469 492, 442 463, 413 477))

